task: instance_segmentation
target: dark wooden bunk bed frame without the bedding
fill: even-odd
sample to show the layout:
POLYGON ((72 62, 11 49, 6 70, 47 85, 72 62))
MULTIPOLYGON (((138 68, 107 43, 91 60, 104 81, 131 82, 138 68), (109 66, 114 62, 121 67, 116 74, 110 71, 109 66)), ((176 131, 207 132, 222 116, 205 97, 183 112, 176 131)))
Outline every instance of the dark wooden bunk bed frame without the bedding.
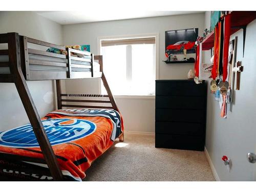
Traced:
MULTIPOLYGON (((73 108, 97 108, 97 109, 114 109, 119 112, 116 105, 115 99, 111 93, 108 82, 103 73, 102 66, 102 56, 94 56, 92 53, 82 52, 74 49, 67 48, 67 62, 55 62, 55 61, 43 61, 43 60, 29 60, 29 53, 44 55, 57 58, 66 59, 66 55, 50 53, 46 51, 29 49, 28 43, 36 44, 39 46, 53 47, 56 49, 64 49, 63 46, 58 46, 50 44, 49 42, 40 41, 26 36, 20 36, 18 33, 5 33, 0 34, 0 44, 8 44, 8 50, 0 50, 0 55, 9 55, 9 62, 0 62, 0 68, 9 67, 10 74, 0 74, 0 82, 11 82, 14 83, 20 99, 24 105, 25 111, 28 115, 29 121, 33 127, 33 131, 37 138, 38 144, 40 146, 41 152, 44 156, 44 159, 31 158, 26 156, 18 156, 6 153, 0 153, 0 158, 7 160, 18 160, 18 161, 29 161, 35 163, 44 163, 47 164, 50 170, 50 173, 55 181, 64 180, 63 174, 59 167, 59 164, 56 160, 53 148, 49 142, 47 134, 45 132, 44 126, 41 122, 40 116, 37 112, 36 106, 34 104, 33 98, 28 89, 26 80, 56 80, 56 92, 57 92, 57 108, 61 109, 62 107, 73 107, 73 108), (90 56, 88 58, 79 58, 72 57, 71 53, 80 53, 83 55, 90 56), (95 72, 93 69, 93 61, 98 60, 100 64, 100 71, 95 72), (90 66, 72 64, 72 60, 80 60, 89 62, 90 66), (65 67, 66 71, 63 70, 54 70, 54 71, 37 71, 31 70, 31 65, 40 65, 40 66, 55 66, 55 67, 65 67), (76 69, 87 68, 89 71, 73 71, 72 68, 76 69), (82 95, 82 94, 67 94, 61 92, 60 79, 75 79, 75 78, 101 78, 103 85, 108 93, 108 95, 82 95), (109 101, 106 100, 82 100, 82 99, 62 99, 65 96, 72 97, 109 97, 109 101), (111 103, 112 106, 91 106, 91 105, 75 105, 75 104, 63 104, 62 102, 84 102, 84 103, 111 103)), ((123 141, 124 136, 119 136, 119 140, 123 141)))

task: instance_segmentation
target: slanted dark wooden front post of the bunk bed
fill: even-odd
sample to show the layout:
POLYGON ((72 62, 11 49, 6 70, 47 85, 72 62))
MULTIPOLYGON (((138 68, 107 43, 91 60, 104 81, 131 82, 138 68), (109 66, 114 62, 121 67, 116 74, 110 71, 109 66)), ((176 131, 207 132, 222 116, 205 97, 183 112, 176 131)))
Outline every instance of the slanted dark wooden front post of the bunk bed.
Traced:
POLYGON ((42 154, 44 155, 46 163, 50 169, 50 173, 54 180, 63 180, 61 169, 58 165, 57 159, 53 152, 53 148, 47 137, 46 131, 41 122, 40 116, 37 112, 36 106, 24 78, 24 74, 22 72, 20 63, 19 35, 18 33, 8 33, 7 36, 10 74, 1 74, 0 81, 15 83, 16 89, 20 99, 22 100, 25 111, 28 115, 29 121, 33 127, 33 131, 41 148, 42 154), (5 77, 6 79, 4 79, 5 77))

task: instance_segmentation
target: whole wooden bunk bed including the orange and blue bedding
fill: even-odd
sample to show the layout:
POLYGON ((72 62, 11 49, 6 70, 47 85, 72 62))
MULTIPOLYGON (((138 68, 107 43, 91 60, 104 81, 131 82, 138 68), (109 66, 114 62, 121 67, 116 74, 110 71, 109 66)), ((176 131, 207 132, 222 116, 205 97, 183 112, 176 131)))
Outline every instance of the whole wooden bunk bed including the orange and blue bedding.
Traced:
POLYGON ((85 176, 82 172, 108 150, 116 138, 119 138, 119 141, 124 139, 122 118, 103 73, 102 56, 94 56, 90 52, 65 48, 18 33, 0 34, 0 45, 3 44, 7 44, 8 49, 0 50, 0 82, 15 84, 30 124, 9 132, 0 132, 1 179, 81 180, 85 176), (42 47, 66 50, 67 56, 47 52, 42 47), (76 53, 83 57, 72 56, 76 53), (101 78, 108 94, 62 93, 60 80, 76 78, 101 78), (56 80, 58 110, 42 119, 39 117, 26 83, 30 80, 56 80), (53 124, 54 127, 51 127, 53 124), (79 124, 79 129, 75 127, 75 131, 68 134, 65 132, 66 127, 76 124, 79 124), (17 130, 19 134, 16 134, 17 130), (26 140, 24 132, 30 132, 33 136, 30 134, 26 140), (75 134, 69 139, 74 132, 80 135, 76 137, 75 134), (66 140, 61 137, 62 140, 56 140, 56 137, 53 139, 56 133, 64 133, 69 137, 65 137, 66 140), (14 139, 13 144, 8 140, 14 137, 12 134, 15 137, 22 135, 22 138, 14 139), (20 140, 26 142, 17 142, 20 140), (6 145, 6 142, 11 144, 6 145), (66 146, 68 144, 69 147, 66 146), (70 151, 72 148, 75 150, 70 151), (23 153, 20 154, 20 151, 23 153), (67 159, 67 155, 71 159, 67 159))

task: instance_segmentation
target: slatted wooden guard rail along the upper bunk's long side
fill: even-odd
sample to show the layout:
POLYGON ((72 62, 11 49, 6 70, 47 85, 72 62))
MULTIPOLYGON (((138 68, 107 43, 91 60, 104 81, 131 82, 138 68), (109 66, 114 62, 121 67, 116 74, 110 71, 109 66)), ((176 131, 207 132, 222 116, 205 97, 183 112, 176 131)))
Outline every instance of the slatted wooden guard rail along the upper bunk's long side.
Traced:
POLYGON ((93 53, 66 48, 26 36, 19 36, 19 38, 20 57, 26 80, 100 77, 100 74, 96 75, 93 70, 93 53), (67 56, 47 52, 48 48, 66 50, 67 56), (75 54, 83 55, 83 57, 75 57, 75 54))

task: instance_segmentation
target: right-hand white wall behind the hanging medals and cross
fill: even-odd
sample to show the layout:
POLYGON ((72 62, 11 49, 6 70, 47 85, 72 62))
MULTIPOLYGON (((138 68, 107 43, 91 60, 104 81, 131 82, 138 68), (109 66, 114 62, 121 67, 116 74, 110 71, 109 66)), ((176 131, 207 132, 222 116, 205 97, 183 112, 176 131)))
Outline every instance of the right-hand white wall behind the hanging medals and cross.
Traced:
MULTIPOLYGON (((206 25, 209 25, 207 15, 205 19, 208 20, 206 25)), ((233 39, 234 36, 238 36, 237 61, 242 61, 244 71, 241 73, 240 90, 234 90, 232 112, 228 111, 226 119, 220 117, 219 103, 214 100, 214 95, 208 94, 207 97, 206 148, 222 181, 256 179, 256 175, 253 177, 256 173, 255 164, 249 163, 246 159, 248 152, 256 152, 255 30, 256 20, 247 26, 244 57, 243 31, 240 30, 230 37, 233 39), (230 173, 221 160, 223 155, 232 161, 230 173)), ((208 93, 209 90, 208 87, 208 93)))

